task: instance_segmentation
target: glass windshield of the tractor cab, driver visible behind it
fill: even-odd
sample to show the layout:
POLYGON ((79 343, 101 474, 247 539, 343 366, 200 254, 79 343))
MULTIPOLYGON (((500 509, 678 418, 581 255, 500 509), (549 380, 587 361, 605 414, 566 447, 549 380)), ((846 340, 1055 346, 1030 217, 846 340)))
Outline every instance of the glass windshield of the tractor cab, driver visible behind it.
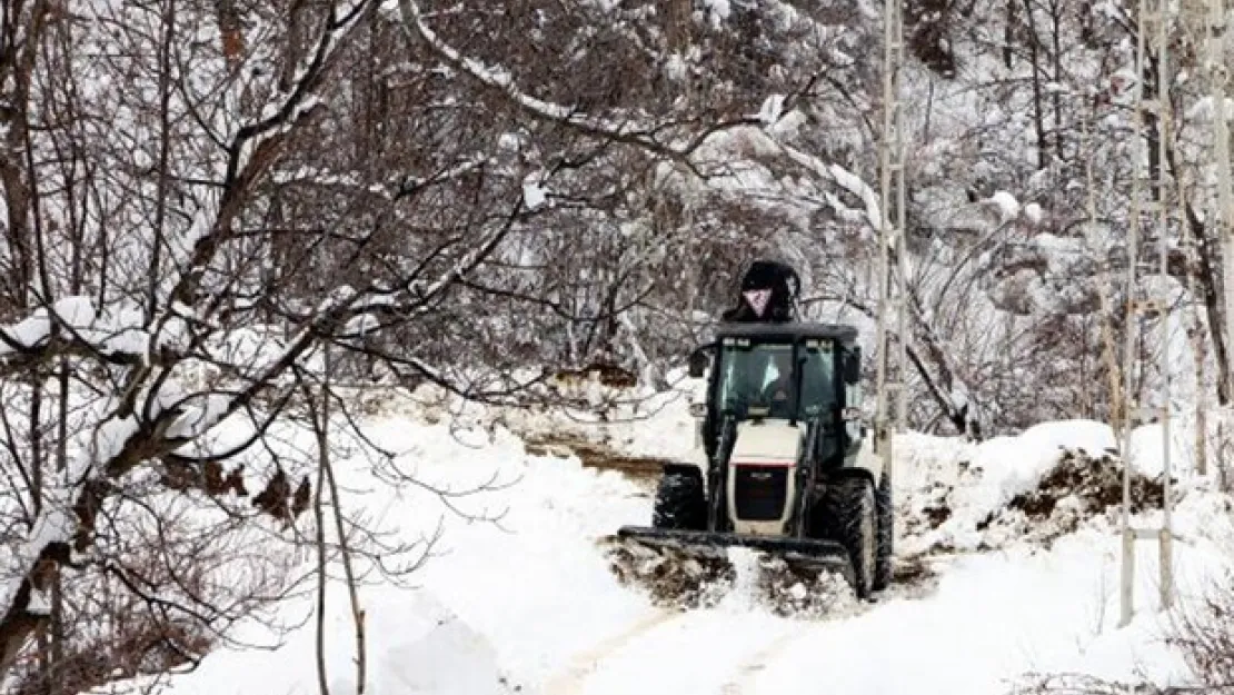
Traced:
POLYGON ((830 344, 806 341, 797 357, 802 359, 800 410, 792 344, 726 342, 721 348, 716 391, 719 409, 731 410, 738 418, 761 414, 812 420, 830 411, 835 406, 830 344))

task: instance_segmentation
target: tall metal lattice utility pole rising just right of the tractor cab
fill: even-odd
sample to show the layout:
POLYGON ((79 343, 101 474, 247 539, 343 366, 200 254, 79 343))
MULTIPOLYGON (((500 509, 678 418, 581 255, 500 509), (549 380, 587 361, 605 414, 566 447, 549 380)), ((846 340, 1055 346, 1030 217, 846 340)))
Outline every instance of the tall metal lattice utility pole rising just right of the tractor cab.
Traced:
POLYGON ((905 132, 900 101, 900 70, 905 59, 902 0, 886 0, 884 14, 882 137, 879 143, 881 172, 881 220, 879 225, 879 311, 877 311, 877 414, 875 448, 882 457, 888 481, 892 478, 895 432, 903 432, 907 420, 905 357, 908 321, 906 316, 907 258, 905 256, 905 132), (895 280, 895 281, 893 281, 895 280), (895 322, 895 328, 892 328, 895 322), (888 402, 888 396, 895 402, 888 402), (893 415, 892 415, 893 412, 893 415))

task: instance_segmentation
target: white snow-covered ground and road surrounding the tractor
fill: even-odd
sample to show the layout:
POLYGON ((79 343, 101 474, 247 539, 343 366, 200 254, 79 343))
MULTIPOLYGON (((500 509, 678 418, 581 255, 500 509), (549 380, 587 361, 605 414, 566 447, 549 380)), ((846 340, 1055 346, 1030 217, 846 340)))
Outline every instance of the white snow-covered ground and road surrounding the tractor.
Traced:
MULTIPOLYGON (((429 481, 465 485, 494 472, 517 481, 460 500, 468 511, 506 512, 499 523, 468 522, 426 491, 392 499, 350 472, 350 486, 370 491, 348 495, 374 518, 407 533, 444 520, 441 554, 413 575, 415 586, 362 589, 365 693, 787 695, 826 684, 832 695, 986 695, 1007 691, 1029 672, 1186 678, 1161 643, 1155 544, 1139 544, 1139 611, 1119 628, 1116 517, 1098 514, 1037 537, 1023 532, 1023 518, 1019 526, 990 521, 1014 516, 1008 502, 1037 485, 1060 446, 1099 454, 1112 443, 1101 425, 1046 423, 982 444, 902 437, 898 551, 906 562, 930 563, 934 576, 874 605, 810 620, 777 617, 739 589, 714 609, 654 606, 617 581, 596 544, 624 523, 648 522, 645 484, 576 458, 532 456, 501 425, 459 431, 429 422, 437 418, 422 406, 387 407, 370 420, 369 435, 429 481), (922 520, 927 509, 939 514, 944 506, 945 518, 922 520)), ((536 426, 527 415, 503 421, 536 426)), ((612 442, 664 456, 689 444, 691 422, 685 402, 673 401, 645 421, 607 430, 612 442)), ((1151 469, 1151 447, 1144 452, 1151 469)), ((1219 565, 1229 507, 1206 484, 1186 483, 1178 493, 1176 572, 1186 597, 1219 565)), ((1074 506, 1060 502, 1039 525, 1074 506)), ((289 605, 288 615, 311 610, 310 596, 289 605)), ((341 586, 331 589, 327 625, 331 691, 354 693, 354 638, 341 586)), ((318 691, 315 663, 308 621, 274 652, 209 655, 195 673, 175 676, 169 691, 307 695, 318 691)))

